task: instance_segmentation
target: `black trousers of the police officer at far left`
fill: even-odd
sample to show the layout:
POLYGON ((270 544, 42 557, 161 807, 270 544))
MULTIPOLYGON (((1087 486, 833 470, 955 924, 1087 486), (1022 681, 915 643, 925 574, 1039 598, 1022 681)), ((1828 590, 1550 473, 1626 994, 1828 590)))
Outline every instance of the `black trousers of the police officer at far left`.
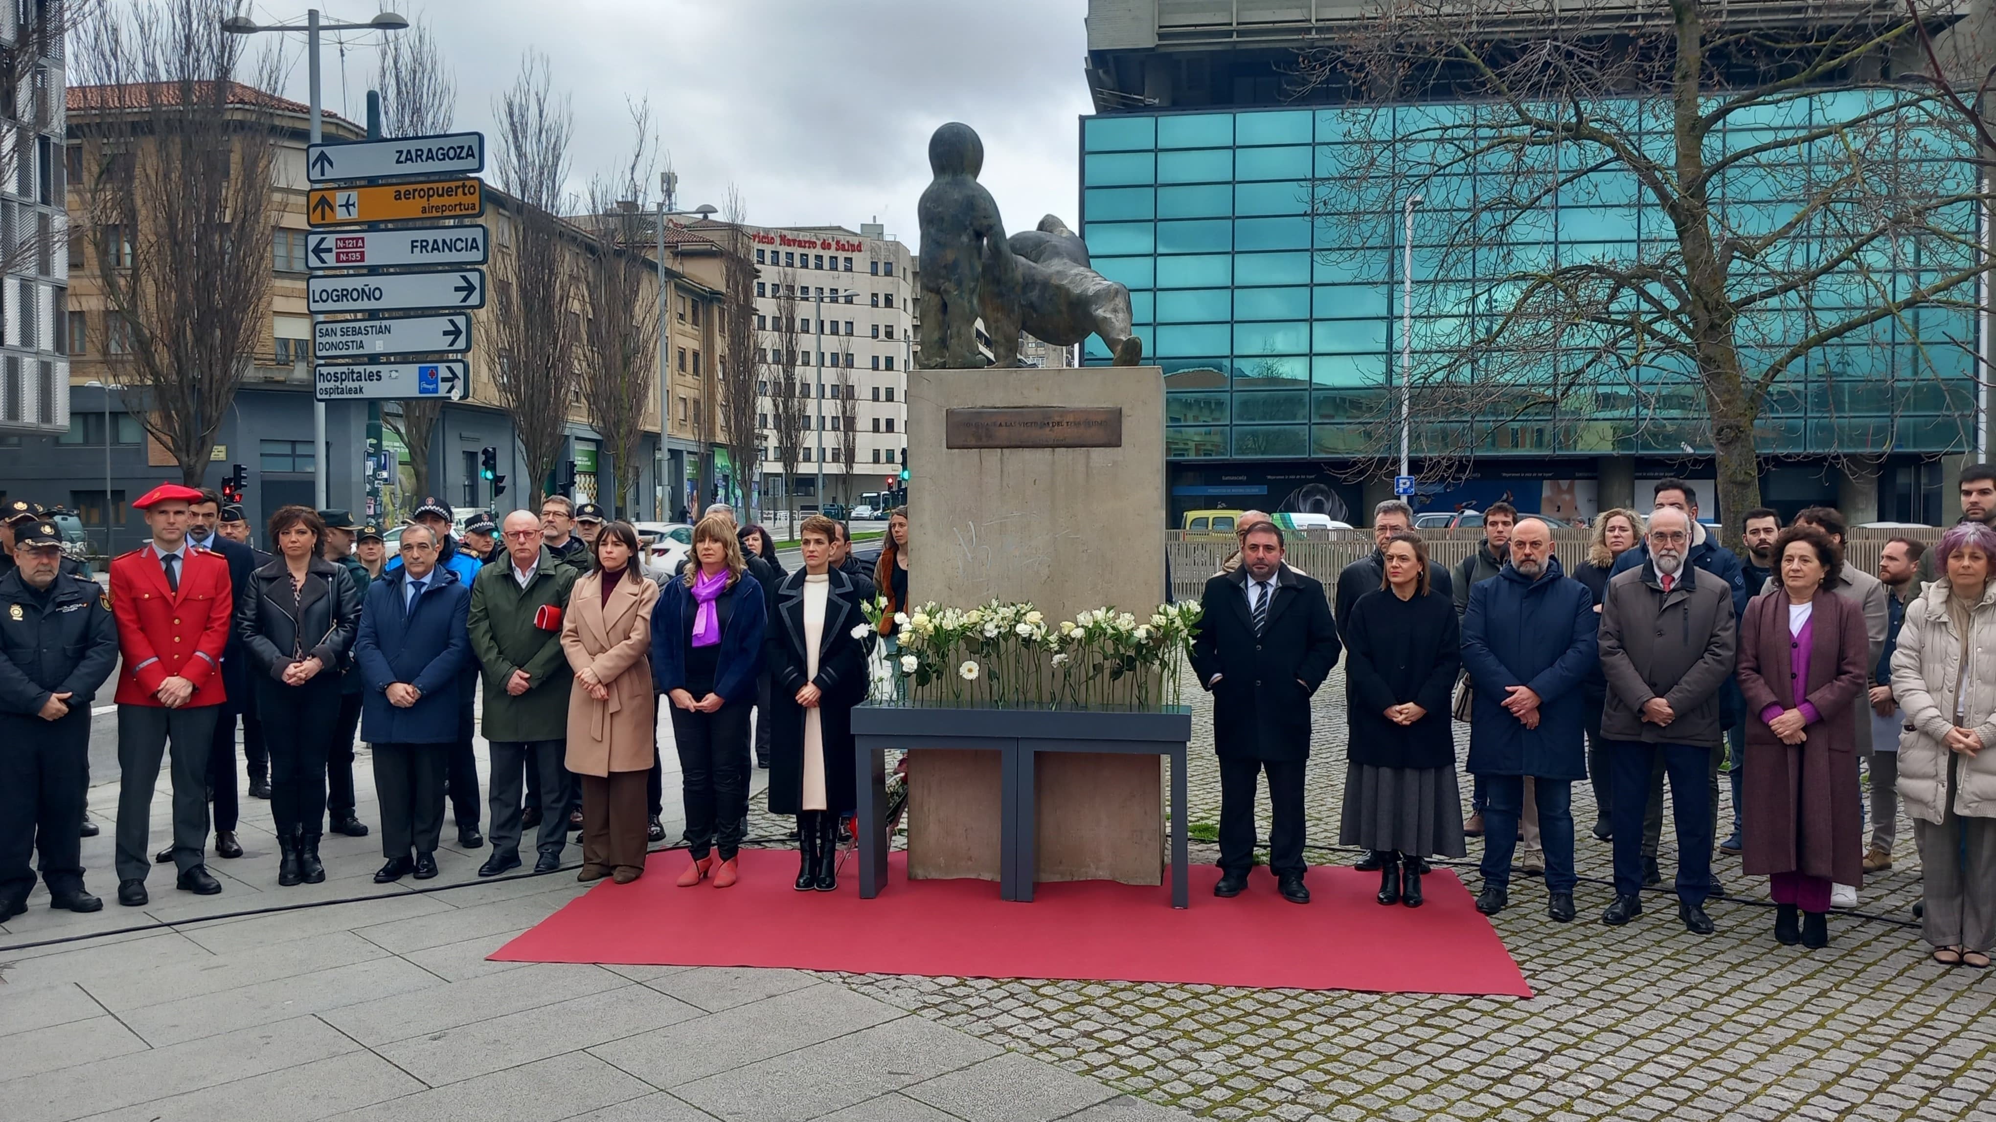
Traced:
POLYGON ((0 713, 0 902, 34 890, 42 850, 50 894, 84 888, 84 801, 90 795, 90 707, 60 721, 0 713))

